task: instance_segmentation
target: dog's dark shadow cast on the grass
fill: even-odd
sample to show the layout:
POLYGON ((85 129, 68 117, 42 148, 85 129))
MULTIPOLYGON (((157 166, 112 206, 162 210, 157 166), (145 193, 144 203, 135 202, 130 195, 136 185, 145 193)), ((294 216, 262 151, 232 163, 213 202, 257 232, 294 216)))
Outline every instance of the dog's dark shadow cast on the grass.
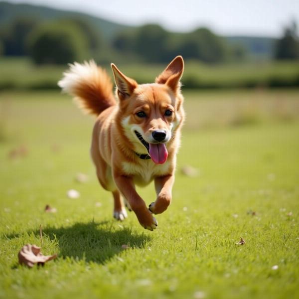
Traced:
MULTIPOLYGON (((116 228, 116 223, 111 221, 76 223, 70 227, 59 228, 44 227, 42 232, 44 239, 47 236, 50 240, 57 242, 59 257, 100 264, 123 251, 122 245, 124 244, 133 249, 144 248, 150 240, 150 237, 144 233, 134 233, 129 228, 118 226, 116 228)), ((39 231, 35 231, 34 234, 38 236, 39 231)), ((6 237, 16 238, 18 236, 6 237)))

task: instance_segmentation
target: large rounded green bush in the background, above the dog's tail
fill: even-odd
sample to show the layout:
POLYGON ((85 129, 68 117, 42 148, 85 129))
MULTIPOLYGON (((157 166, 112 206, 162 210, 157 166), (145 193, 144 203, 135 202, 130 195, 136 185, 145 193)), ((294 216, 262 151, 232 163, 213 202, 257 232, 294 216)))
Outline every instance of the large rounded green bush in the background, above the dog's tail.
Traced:
POLYGON ((71 24, 51 23, 38 27, 28 39, 30 57, 36 64, 65 64, 88 58, 87 40, 71 24))

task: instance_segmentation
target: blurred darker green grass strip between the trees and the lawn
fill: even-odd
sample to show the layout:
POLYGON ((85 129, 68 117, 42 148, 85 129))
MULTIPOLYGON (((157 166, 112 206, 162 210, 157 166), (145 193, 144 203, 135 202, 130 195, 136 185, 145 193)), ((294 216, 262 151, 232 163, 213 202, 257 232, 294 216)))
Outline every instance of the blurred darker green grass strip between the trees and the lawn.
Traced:
MULTIPOLYGON (((120 69, 139 83, 149 83, 165 68, 165 64, 118 64, 120 69), (141 72, 141 70, 144 70, 141 72)), ((110 75, 110 65, 104 66, 110 75)), ((58 89, 57 81, 64 66, 36 66, 28 58, 0 58, 0 90, 58 89)), ((257 86, 298 87, 299 62, 259 62, 206 65, 186 61, 182 82, 187 88, 253 88, 257 86)))

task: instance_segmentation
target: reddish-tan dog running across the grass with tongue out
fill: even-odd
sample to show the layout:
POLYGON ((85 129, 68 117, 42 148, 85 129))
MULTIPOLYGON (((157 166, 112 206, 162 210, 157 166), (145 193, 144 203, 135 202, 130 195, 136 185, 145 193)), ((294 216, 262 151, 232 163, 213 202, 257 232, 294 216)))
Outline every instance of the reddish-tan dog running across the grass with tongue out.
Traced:
POLYGON ((184 61, 175 57, 154 83, 140 85, 115 64, 111 67, 115 96, 110 77, 93 60, 70 64, 58 85, 81 109, 97 116, 91 157, 100 184, 113 194, 114 218, 127 218, 124 198, 128 210, 152 231, 157 227, 153 214, 162 213, 171 202, 185 116, 180 90, 184 61), (152 180, 157 197, 148 208, 135 185, 152 180))

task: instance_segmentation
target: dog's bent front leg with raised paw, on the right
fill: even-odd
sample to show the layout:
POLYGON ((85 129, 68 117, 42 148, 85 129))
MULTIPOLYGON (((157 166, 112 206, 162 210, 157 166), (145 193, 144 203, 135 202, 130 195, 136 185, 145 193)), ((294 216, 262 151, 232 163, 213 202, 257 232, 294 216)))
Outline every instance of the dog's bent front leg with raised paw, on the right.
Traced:
POLYGON ((157 199, 149 205, 149 210, 154 214, 164 212, 171 202, 171 189, 174 182, 174 175, 157 176, 154 179, 154 186, 157 199))

